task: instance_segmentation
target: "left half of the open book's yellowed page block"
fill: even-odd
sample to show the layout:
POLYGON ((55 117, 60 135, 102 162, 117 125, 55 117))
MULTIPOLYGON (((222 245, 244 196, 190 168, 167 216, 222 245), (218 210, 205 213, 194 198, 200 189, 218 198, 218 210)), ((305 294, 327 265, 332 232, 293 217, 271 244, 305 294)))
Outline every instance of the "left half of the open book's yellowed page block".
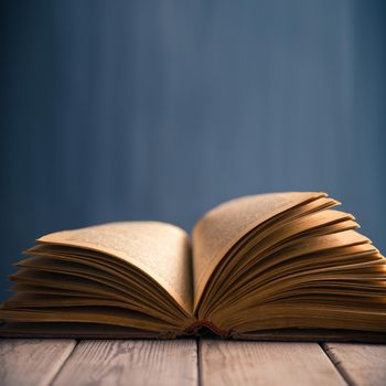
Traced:
POLYGON ((191 247, 181 228, 122 222, 36 242, 11 277, 17 294, 0 310, 2 320, 30 322, 19 331, 147 336, 182 333, 192 323, 191 247))

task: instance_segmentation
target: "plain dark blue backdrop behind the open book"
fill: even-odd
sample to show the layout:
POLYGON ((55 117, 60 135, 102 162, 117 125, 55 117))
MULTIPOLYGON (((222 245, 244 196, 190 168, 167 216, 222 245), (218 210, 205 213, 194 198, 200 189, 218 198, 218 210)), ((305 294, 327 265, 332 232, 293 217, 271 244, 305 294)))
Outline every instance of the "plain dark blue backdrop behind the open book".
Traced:
POLYGON ((384 1, 2 1, 1 296, 36 236, 325 190, 385 251, 384 1))

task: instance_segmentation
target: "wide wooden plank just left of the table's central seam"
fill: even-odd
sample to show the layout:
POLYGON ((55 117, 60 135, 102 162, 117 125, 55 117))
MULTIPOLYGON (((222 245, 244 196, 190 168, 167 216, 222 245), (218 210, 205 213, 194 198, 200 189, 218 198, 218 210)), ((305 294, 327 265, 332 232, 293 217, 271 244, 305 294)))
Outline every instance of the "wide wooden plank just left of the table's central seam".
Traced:
POLYGON ((195 340, 81 341, 54 385, 196 385, 195 340))

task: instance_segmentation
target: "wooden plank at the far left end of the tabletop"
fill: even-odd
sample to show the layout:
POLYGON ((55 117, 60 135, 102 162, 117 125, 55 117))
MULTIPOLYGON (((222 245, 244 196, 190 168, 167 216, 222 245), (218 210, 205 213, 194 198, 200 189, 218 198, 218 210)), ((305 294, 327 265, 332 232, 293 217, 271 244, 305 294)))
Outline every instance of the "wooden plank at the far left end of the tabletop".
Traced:
POLYGON ((49 385, 75 345, 74 340, 0 340, 1 385, 49 385))

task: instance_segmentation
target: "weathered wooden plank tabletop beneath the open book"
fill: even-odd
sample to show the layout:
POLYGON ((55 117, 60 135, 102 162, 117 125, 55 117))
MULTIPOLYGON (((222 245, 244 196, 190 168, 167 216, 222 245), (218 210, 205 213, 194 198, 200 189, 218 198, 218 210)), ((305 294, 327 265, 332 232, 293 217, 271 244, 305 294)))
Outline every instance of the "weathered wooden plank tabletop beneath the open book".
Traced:
POLYGON ((1 340, 1 385, 386 385, 386 345, 1 340))

